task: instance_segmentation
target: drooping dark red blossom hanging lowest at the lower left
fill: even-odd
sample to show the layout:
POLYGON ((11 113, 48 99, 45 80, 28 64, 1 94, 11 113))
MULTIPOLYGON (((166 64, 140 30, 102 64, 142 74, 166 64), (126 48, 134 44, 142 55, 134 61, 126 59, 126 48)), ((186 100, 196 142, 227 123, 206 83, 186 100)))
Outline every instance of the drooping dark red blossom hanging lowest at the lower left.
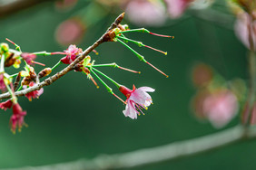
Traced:
POLYGON ((23 125, 25 125, 24 117, 26 115, 26 111, 23 111, 18 103, 15 103, 13 106, 13 115, 10 119, 10 124, 12 126, 12 131, 15 133, 16 127, 21 130, 23 125))

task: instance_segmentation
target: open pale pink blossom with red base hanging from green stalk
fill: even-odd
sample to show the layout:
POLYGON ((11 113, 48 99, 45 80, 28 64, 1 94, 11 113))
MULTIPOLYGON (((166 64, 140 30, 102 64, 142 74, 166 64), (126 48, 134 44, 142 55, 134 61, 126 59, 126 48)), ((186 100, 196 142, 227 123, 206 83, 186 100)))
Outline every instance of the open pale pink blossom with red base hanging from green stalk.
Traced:
POLYGON ((137 118, 137 115, 143 113, 142 109, 147 109, 152 104, 152 98, 147 92, 153 92, 154 90, 150 87, 141 87, 133 90, 121 86, 119 90, 126 96, 126 107, 123 110, 125 117, 137 118))

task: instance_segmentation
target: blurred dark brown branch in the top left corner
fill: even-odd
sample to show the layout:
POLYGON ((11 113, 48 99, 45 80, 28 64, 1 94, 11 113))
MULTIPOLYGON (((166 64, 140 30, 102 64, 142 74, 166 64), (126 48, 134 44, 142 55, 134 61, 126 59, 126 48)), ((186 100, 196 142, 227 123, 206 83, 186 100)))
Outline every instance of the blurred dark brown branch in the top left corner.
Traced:
POLYGON ((29 8, 40 3, 45 3, 46 1, 51 0, 0 0, 0 17, 14 14, 25 8, 29 8))

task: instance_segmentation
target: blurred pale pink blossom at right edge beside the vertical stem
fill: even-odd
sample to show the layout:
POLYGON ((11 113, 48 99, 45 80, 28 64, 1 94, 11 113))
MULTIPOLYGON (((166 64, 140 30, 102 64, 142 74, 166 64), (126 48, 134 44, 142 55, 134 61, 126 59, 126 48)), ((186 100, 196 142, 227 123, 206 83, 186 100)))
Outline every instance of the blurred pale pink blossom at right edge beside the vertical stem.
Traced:
POLYGON ((251 16, 247 13, 238 14, 237 21, 235 23, 235 33, 241 42, 250 49, 249 43, 249 26, 251 25, 251 38, 254 44, 254 50, 256 49, 256 20, 251 23, 251 16))

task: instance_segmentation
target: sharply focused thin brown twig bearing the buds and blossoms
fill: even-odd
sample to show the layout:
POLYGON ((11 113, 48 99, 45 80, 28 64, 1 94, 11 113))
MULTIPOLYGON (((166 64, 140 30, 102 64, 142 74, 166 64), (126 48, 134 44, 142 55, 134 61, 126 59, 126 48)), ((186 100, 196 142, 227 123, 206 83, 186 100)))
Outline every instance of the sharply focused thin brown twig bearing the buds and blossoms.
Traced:
MULTIPOLYGON (((108 35, 107 33, 112 30, 113 28, 115 28, 118 24, 120 24, 123 20, 123 14, 120 14, 115 21, 113 22, 113 24, 108 28, 108 30, 103 33, 102 37, 99 38, 96 42, 94 42, 94 44, 92 46, 89 46, 79 57, 77 57, 70 65, 68 65, 67 67, 64 68, 64 70, 59 71, 57 73, 55 73, 53 76, 47 78, 46 80, 35 84, 33 87, 25 89, 25 90, 20 90, 20 91, 16 91, 15 92, 15 96, 24 96, 25 94, 32 92, 34 90, 40 90, 41 88, 43 88, 44 86, 49 86, 51 85, 55 80, 60 79, 61 77, 63 77, 67 72, 69 71, 73 71, 75 64, 77 64, 80 61, 83 61, 84 58, 90 53, 92 52, 97 46, 99 46, 101 43, 103 42, 107 42, 105 39, 106 35, 108 35)), ((0 99, 7 99, 10 98, 11 95, 9 92, 6 92, 4 94, 0 95, 0 99)))

